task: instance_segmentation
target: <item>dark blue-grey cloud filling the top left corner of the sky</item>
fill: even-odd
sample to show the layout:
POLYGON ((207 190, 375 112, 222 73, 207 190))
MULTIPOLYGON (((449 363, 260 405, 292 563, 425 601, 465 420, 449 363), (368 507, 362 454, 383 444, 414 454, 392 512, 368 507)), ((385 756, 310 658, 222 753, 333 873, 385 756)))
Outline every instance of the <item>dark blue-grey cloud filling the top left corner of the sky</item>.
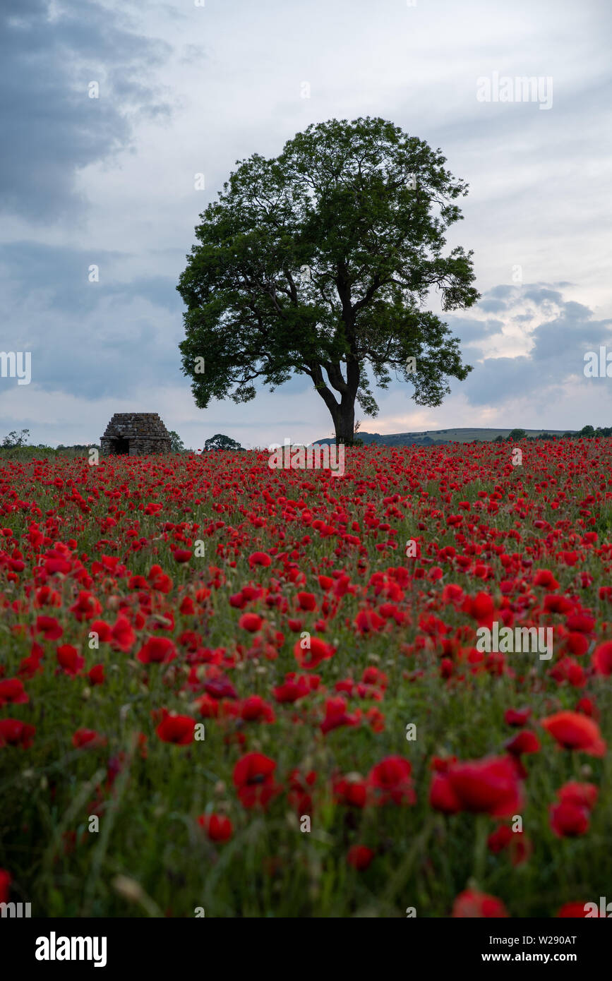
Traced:
POLYGON ((77 170, 128 146, 134 119, 168 114, 151 70, 169 50, 91 0, 3 0, 0 209, 41 223, 81 208, 77 170))

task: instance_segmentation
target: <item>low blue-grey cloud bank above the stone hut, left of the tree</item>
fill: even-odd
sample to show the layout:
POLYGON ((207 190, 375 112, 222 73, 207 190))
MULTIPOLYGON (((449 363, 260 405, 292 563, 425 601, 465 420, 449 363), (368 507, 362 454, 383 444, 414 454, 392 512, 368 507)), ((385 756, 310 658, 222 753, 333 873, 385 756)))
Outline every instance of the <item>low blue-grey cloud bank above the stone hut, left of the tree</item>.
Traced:
MULTIPOLYGON (((0 249, 3 345, 32 353, 32 382, 84 399, 127 395, 137 378, 182 380, 181 303, 170 277, 89 283, 89 256, 20 242, 0 249)), ((100 253, 119 264, 121 253, 100 253)), ((184 384, 184 383, 183 383, 184 384)))

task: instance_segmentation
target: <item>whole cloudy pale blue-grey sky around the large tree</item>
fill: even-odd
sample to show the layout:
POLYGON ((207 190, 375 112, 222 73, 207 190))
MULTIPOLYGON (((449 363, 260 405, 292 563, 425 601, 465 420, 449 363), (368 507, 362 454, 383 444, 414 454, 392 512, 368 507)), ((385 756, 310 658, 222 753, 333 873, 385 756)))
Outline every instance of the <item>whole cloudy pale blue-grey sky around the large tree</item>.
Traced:
POLYGON ((3 370, 0 439, 97 442, 129 411, 194 449, 331 436, 303 376, 198 409, 176 286, 236 161, 363 116, 468 181, 448 247, 482 298, 444 316, 467 380, 435 408, 375 391, 361 429, 612 425, 612 379, 585 377, 612 355, 611 35, 609 0, 2 0, 0 347, 31 379, 3 370))

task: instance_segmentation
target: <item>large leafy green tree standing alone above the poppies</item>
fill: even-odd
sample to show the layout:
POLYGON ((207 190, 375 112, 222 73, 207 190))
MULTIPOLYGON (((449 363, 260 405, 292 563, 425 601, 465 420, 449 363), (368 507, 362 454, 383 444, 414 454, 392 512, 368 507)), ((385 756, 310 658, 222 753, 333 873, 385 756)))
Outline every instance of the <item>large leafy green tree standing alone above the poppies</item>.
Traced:
POLYGON ((439 405, 447 378, 463 380, 459 340, 425 308, 472 306, 472 252, 444 256, 468 185, 445 158, 382 119, 311 125, 280 157, 239 161, 200 216, 178 291, 185 303, 183 373, 196 404, 246 402, 308 376, 351 442, 355 400, 378 413, 370 370, 394 370, 419 405, 439 405))

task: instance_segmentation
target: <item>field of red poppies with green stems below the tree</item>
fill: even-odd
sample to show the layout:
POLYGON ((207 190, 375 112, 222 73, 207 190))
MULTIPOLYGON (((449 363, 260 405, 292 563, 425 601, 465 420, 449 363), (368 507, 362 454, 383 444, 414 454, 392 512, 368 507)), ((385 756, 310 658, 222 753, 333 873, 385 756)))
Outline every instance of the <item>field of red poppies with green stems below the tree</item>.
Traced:
POLYGON ((612 442, 522 448, 2 460, 0 901, 612 901, 612 442))

